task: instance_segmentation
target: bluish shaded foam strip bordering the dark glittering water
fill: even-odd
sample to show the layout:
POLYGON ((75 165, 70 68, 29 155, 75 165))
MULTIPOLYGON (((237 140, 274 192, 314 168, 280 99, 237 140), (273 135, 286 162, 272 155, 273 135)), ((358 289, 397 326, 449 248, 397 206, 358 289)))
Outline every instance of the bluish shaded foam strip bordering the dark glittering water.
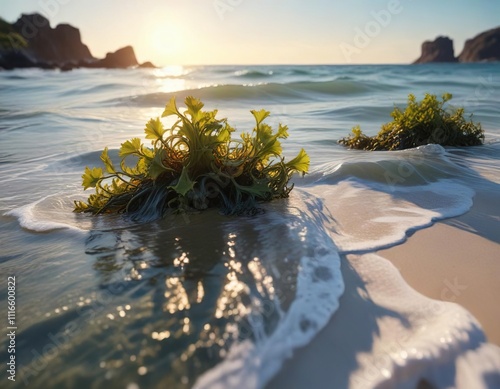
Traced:
POLYGON ((296 297, 275 331, 255 343, 233 344, 221 363, 198 378, 194 389, 262 388, 294 349, 307 345, 328 323, 339 307, 344 281, 333 242, 325 236, 318 249, 321 255, 301 258, 296 297), (318 279, 318 269, 330 277, 318 279))

